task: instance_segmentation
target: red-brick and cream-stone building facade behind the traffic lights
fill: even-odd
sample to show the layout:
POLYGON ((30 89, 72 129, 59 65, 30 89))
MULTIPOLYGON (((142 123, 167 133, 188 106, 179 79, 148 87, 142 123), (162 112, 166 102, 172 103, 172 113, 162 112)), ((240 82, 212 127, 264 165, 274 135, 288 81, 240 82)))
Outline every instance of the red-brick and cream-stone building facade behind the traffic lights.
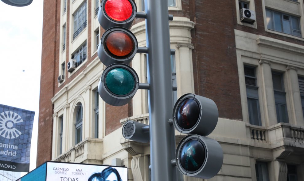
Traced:
MULTIPOLYGON (((134 1, 142 10, 143 1, 134 1)), ((210 180, 304 180, 303 0, 168 2, 176 97, 195 93, 219 109, 210 138, 220 142, 224 164, 210 180), (241 21, 242 8, 255 12, 256 21, 241 21)), ((96 93, 105 68, 96 51, 104 32, 97 3, 44 1, 37 165, 111 165, 119 158, 129 180, 147 181, 149 145, 121 135, 127 120, 148 123, 147 92, 138 90, 121 107, 96 93), (72 56, 77 67, 68 72, 72 56)), ((143 19, 131 31, 145 46, 143 19)), ((145 58, 137 53, 132 61, 141 83, 147 83, 145 58)), ((177 133, 177 143, 182 137, 177 133)))

